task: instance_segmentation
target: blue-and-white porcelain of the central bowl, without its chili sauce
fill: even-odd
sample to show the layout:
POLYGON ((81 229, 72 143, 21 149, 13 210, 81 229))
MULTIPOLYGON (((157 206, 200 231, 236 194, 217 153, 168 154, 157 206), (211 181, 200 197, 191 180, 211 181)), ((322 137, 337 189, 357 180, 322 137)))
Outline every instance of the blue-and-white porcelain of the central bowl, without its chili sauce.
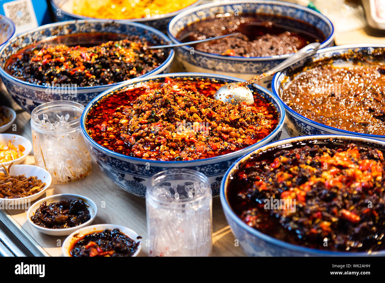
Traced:
POLYGON ((146 82, 148 80, 156 80, 158 78, 212 78, 220 82, 241 82, 243 80, 214 75, 206 73, 170 73, 163 75, 156 75, 148 78, 137 78, 135 82, 127 82, 122 85, 111 88, 98 97, 95 97, 82 114, 80 118, 80 127, 84 135, 85 142, 90 149, 90 153, 94 156, 97 165, 100 170, 110 178, 115 184, 120 186, 122 189, 132 193, 134 195, 140 196, 142 198, 146 195, 146 185, 148 180, 156 173, 164 171, 171 168, 186 168, 199 171, 206 175, 209 178, 211 188, 213 190, 213 197, 219 196, 219 185, 222 180, 224 172, 229 168, 235 160, 245 153, 254 150, 260 145, 279 140, 281 137, 283 122, 285 120, 285 112, 283 111, 283 106, 279 100, 272 95, 271 92, 264 89, 259 85, 252 85, 251 89, 262 97, 265 97, 272 105, 276 108, 278 114, 280 115, 279 123, 275 130, 270 133, 266 138, 255 143, 254 145, 248 146, 238 151, 228 153, 225 155, 216 156, 213 158, 206 158, 200 160, 190 160, 190 161, 154 161, 146 160, 142 158, 131 157, 123 155, 121 153, 116 153, 114 151, 108 150, 107 148, 96 143, 92 138, 87 134, 85 129, 85 118, 89 113, 90 109, 97 103, 99 100, 104 98, 106 95, 109 95, 111 92, 119 91, 127 87, 133 87, 136 83, 146 82))

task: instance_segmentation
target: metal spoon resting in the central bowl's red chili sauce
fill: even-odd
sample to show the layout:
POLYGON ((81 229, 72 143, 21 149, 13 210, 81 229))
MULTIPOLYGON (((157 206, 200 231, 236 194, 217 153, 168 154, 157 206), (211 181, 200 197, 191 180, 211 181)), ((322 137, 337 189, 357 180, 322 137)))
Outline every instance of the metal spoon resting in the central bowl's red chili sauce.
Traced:
POLYGON ((243 83, 228 83, 223 87, 219 88, 214 94, 216 100, 222 100, 223 102, 231 103, 233 105, 246 102, 247 105, 254 103, 254 97, 251 90, 247 87, 248 85, 258 82, 259 80, 269 77, 276 72, 279 72, 298 61, 308 57, 309 55, 314 54, 318 48, 320 48, 321 43, 314 42, 306 45, 305 47, 298 50, 297 53, 291 55, 288 59, 269 70, 266 73, 255 76, 254 78, 243 82, 243 83))

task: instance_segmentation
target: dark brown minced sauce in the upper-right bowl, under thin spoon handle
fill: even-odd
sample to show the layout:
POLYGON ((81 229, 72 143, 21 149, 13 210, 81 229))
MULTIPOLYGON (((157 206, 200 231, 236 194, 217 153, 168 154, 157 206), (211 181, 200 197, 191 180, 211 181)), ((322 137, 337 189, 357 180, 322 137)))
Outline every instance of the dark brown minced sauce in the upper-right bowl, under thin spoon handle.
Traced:
POLYGON ((239 15, 208 18, 184 28, 182 42, 240 32, 241 35, 193 45, 196 50, 243 57, 268 57, 294 53, 306 44, 324 41, 318 28, 300 20, 272 15, 239 15), (296 26, 293 28, 292 26, 296 26))

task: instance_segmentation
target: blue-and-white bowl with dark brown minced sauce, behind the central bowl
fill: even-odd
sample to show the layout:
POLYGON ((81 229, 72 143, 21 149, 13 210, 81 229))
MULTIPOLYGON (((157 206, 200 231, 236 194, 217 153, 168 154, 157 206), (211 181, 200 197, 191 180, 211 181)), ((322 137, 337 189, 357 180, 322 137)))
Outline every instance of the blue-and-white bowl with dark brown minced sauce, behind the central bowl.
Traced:
MULTIPOLYGON (((217 1, 174 17, 167 34, 174 43, 228 33, 241 36, 177 47, 187 72, 207 72, 248 80, 275 67, 306 43, 333 45, 333 25, 321 13, 281 1, 217 1), (289 34, 288 34, 289 32, 289 34), (245 38, 247 37, 247 38, 245 38)), ((269 88, 271 78, 258 84, 269 88)))

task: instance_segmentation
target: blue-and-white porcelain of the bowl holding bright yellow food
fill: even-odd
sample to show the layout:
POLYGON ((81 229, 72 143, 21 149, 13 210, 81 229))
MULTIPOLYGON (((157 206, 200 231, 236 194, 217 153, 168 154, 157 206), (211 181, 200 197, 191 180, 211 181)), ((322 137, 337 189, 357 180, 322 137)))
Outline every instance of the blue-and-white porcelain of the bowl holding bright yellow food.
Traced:
MULTIPOLYGON (((186 8, 183 8, 181 10, 167 13, 164 15, 159 15, 157 17, 150 17, 150 18, 133 18, 133 19, 127 19, 127 20, 117 20, 122 22, 137 22, 142 23, 144 25, 148 25, 150 27, 156 28, 158 30, 166 30, 168 22, 178 15, 179 13, 183 12, 184 10, 187 10, 189 8, 195 7, 202 3, 203 0, 197 0, 196 2, 192 3, 190 6, 187 6, 186 8)), ((59 21, 68 21, 68 20, 76 20, 76 19, 95 19, 90 17, 85 17, 82 15, 77 15, 74 13, 71 13, 70 10, 72 9, 72 3, 73 0, 51 0, 52 5, 52 11, 56 15, 57 19, 59 21)), ((113 20, 113 19, 110 19, 113 20)))

